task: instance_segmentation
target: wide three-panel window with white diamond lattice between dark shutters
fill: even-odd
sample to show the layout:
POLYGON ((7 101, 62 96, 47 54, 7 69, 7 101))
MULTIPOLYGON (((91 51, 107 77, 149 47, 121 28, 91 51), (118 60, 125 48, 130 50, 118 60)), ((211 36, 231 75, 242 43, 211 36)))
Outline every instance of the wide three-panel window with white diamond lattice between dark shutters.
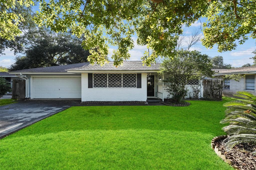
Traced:
POLYGON ((136 88, 136 74, 93 74, 93 87, 136 88))

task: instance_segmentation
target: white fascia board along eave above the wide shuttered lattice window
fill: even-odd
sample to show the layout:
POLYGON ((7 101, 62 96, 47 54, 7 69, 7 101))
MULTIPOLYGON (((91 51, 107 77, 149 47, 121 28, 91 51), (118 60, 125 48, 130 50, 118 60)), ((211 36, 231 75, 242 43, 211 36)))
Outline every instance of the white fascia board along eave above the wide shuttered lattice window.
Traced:
POLYGON ((127 72, 136 72, 136 73, 148 73, 148 72, 158 72, 159 70, 66 70, 73 73, 127 73, 127 72))

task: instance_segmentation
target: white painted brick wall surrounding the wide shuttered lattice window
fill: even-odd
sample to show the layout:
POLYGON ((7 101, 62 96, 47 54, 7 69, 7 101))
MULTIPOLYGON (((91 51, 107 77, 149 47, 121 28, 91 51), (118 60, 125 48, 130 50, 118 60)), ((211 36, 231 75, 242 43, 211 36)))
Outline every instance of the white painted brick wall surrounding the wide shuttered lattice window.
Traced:
POLYGON ((88 88, 88 73, 82 73, 82 101, 146 101, 147 74, 141 74, 141 88, 88 88))

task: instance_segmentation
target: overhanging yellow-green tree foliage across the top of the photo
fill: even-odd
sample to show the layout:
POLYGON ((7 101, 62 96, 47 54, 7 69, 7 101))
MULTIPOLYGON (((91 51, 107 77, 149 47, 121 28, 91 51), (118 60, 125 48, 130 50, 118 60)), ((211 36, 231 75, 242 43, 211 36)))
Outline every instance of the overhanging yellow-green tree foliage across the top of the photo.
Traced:
MULTIPOLYGON (((108 45, 116 46, 114 65, 129 59, 133 48, 131 36, 136 32, 137 44, 147 45, 152 53, 144 53, 143 63, 150 65, 157 56, 173 57, 182 26, 190 26, 200 17, 203 24, 202 43, 206 47, 218 45, 219 51, 236 48, 236 40, 244 43, 247 34, 255 38, 255 0, 188 1, 188 0, 51 0, 40 2, 34 17, 39 26, 55 32, 71 31, 84 36, 82 46, 90 50, 88 60, 104 64, 108 45)), ((12 11, 17 4, 34 5, 33 0, 1 1, 0 37, 12 40, 20 34, 19 22, 24 17, 12 11)))

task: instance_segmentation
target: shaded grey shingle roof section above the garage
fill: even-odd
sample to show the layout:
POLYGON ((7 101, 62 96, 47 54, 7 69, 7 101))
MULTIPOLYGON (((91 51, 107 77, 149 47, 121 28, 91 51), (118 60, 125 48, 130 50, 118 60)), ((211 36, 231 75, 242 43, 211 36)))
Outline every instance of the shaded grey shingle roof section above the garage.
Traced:
POLYGON ((90 64, 89 62, 77 63, 77 64, 62 65, 62 66, 30 68, 30 69, 24 69, 24 70, 16 70, 12 72, 67 72, 66 71, 67 69, 88 66, 89 64, 90 64))

